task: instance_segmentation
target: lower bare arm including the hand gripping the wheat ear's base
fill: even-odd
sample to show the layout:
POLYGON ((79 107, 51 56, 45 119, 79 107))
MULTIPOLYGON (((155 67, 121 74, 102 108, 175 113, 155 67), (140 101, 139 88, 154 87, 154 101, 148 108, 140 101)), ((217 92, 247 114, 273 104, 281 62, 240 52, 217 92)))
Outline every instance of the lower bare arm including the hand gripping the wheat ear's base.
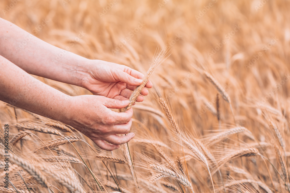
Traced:
POLYGON ((129 133, 132 108, 125 113, 109 109, 124 108, 128 100, 94 95, 68 96, 33 78, 3 56, 0 56, 0 100, 73 126, 105 150, 117 149, 134 137, 129 133), (117 135, 126 133, 129 134, 117 135))

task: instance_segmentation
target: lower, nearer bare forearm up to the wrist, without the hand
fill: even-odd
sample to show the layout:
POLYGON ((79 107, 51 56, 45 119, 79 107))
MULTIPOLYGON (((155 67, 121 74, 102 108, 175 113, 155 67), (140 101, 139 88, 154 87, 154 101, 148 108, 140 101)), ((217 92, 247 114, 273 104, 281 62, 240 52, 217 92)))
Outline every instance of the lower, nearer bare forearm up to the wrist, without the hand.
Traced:
POLYGON ((0 56, 0 100, 62 121, 69 119, 71 97, 44 84, 0 56))

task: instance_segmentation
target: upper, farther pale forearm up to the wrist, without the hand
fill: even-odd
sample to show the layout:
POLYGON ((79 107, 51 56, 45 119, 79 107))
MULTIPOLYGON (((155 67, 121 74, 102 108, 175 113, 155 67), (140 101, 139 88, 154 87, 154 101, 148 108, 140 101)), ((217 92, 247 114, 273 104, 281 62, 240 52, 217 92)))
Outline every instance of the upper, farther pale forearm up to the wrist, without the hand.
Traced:
POLYGON ((50 45, 0 18, 0 55, 28 73, 82 86, 88 59, 50 45), (65 53, 65 54, 64 54, 65 53))

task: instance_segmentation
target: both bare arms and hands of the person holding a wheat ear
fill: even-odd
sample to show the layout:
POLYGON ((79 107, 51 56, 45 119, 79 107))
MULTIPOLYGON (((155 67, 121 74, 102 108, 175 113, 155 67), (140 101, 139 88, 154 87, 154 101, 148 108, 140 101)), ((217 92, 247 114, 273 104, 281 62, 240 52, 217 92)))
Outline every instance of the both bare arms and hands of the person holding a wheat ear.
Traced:
MULTIPOLYGON (((110 109, 129 104, 142 73, 52 46, 1 18, 0 34, 0 100, 73 126, 104 150, 117 149, 134 137, 129 133, 132 108, 124 113, 110 109), (84 87, 94 95, 68 96, 29 73, 84 87)), ((148 94, 147 88, 142 95, 148 94)), ((144 100, 142 95, 137 102, 144 100)))

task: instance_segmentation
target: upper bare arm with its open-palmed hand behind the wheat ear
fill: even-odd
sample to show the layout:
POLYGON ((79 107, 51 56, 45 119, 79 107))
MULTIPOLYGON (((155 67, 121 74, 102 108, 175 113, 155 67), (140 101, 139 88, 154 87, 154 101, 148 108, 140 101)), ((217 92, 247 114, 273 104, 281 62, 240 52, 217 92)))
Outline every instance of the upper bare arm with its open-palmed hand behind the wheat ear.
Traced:
MULTIPOLYGON (((0 55, 15 65, 37 76, 84 87, 95 95, 126 100, 144 76, 124 65, 67 52, 1 18, 0 34, 0 55)), ((146 87, 151 88, 152 83, 149 81, 146 87)), ((148 94, 147 88, 142 95, 148 94)), ((143 100, 140 95, 137 102, 143 100)))

